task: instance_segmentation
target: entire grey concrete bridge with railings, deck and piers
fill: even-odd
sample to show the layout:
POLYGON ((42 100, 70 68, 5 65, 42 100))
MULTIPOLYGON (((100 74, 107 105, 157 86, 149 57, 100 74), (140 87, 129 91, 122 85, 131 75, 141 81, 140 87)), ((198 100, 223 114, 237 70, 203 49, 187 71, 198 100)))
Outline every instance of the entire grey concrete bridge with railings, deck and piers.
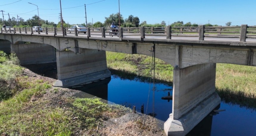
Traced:
POLYGON ((164 130, 166 135, 186 135, 220 103, 216 63, 256 66, 256 32, 249 30, 255 28, 118 28, 119 37, 110 37, 110 28, 88 28, 87 34, 15 28, 1 32, 0 50, 10 48, 22 64, 57 62, 54 86, 69 87, 110 77, 105 51, 151 56, 154 48, 157 58, 174 66, 172 113, 164 130))

